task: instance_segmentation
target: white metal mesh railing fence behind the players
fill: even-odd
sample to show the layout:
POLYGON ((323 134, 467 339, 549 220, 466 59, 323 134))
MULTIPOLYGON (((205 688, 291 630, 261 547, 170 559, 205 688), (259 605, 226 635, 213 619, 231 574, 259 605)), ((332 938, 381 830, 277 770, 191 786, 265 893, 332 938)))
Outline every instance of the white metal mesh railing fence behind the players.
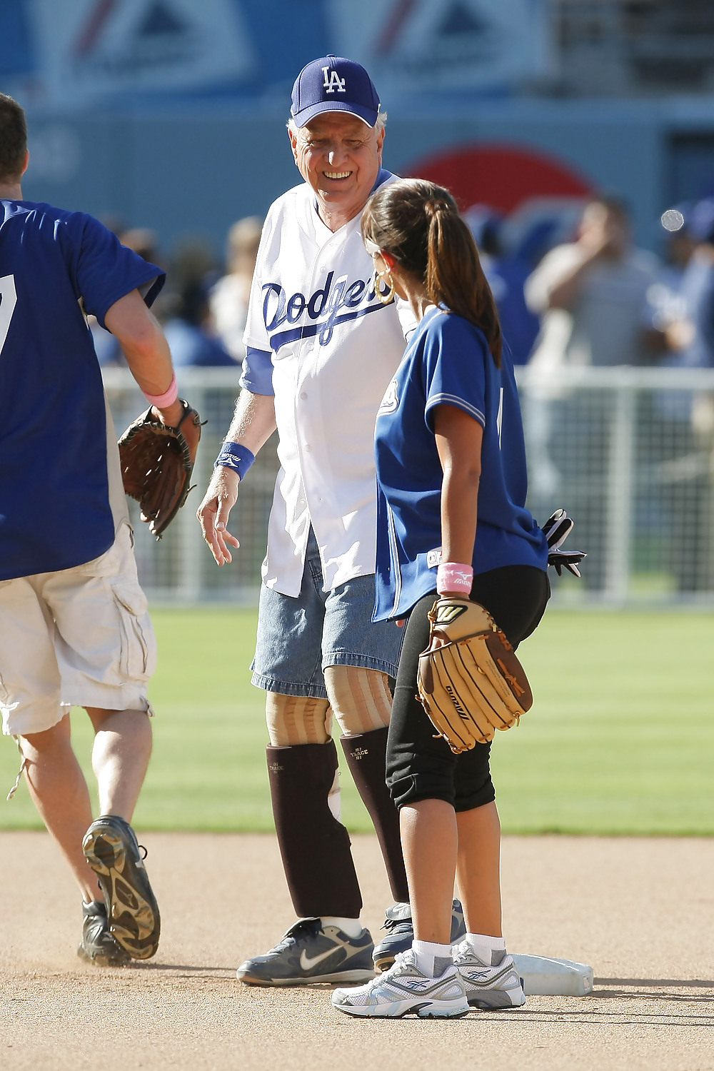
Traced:
MULTIPOLYGON (((197 489, 156 543, 135 523, 141 582, 154 601, 254 602, 278 469, 274 442, 258 455, 231 518, 241 541, 218 569, 196 508, 238 393, 233 368, 181 368, 180 392, 209 423, 197 489)), ((714 607, 714 369, 517 369, 529 455, 529 506, 543 521, 573 515, 574 547, 588 552, 583 582, 553 577, 560 605, 682 604, 714 607)), ((118 432, 146 401, 124 368, 104 371, 118 432)), ((133 504, 134 516, 136 509, 133 504)))

